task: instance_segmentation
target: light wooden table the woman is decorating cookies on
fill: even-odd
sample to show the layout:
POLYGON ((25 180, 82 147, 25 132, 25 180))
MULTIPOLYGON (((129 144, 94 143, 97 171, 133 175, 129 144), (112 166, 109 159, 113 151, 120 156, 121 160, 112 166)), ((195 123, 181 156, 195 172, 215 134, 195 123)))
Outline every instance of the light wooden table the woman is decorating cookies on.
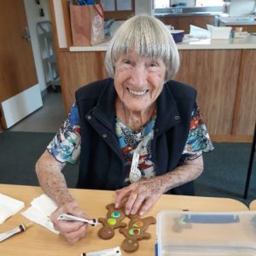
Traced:
MULTIPOLYGON (((71 194, 79 201, 80 207, 91 218, 106 217, 105 206, 113 202, 113 191, 70 189, 71 194)), ((0 193, 9 195, 25 202, 25 208, 30 206, 33 198, 43 193, 40 187, 0 184, 0 193)), ((154 216, 163 210, 189 210, 189 211, 212 211, 212 212, 236 212, 247 211, 248 208, 240 201, 229 198, 211 198, 184 195, 162 195, 157 204, 146 216, 154 216)), ((0 232, 10 230, 20 223, 28 223, 29 220, 17 213, 0 225, 0 232)), ((129 219, 125 218, 128 224, 129 219)), ((115 236, 108 241, 99 239, 97 231, 100 227, 90 227, 86 237, 71 246, 62 236, 55 235, 38 224, 34 224, 25 233, 19 234, 0 243, 0 255, 26 255, 26 256, 79 256, 96 250, 102 250, 121 245, 125 236, 115 230, 115 236)), ((139 241, 139 249, 135 253, 123 255, 154 255, 154 244, 156 241, 156 225, 150 225, 148 232, 152 235, 149 240, 139 241)))

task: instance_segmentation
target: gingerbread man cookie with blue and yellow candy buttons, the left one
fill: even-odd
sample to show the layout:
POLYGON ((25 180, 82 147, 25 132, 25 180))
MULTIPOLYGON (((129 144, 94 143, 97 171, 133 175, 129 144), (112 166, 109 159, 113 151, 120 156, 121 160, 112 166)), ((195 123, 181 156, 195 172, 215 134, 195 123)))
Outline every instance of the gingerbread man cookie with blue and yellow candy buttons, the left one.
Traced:
POLYGON ((103 224, 101 230, 98 231, 98 236, 102 239, 110 239, 114 236, 114 229, 119 227, 124 228, 126 224, 122 222, 125 218, 125 211, 123 208, 115 209, 114 204, 109 204, 107 207, 107 218, 99 218, 98 221, 103 224))

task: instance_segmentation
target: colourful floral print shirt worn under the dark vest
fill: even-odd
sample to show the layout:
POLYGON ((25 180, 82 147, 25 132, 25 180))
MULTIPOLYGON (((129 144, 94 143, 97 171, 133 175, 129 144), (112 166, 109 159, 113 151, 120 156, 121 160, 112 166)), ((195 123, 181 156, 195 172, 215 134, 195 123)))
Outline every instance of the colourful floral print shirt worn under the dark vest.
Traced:
MULTIPOLYGON (((119 146, 125 157, 126 178, 129 177, 134 152, 140 154, 138 168, 142 172, 142 177, 155 176, 150 143, 154 138, 156 116, 157 111, 155 110, 151 119, 143 126, 142 131, 133 131, 116 118, 115 132, 119 137, 119 146)), ((73 104, 67 119, 47 147, 49 153, 60 162, 77 163, 81 148, 80 131, 78 107, 73 104)), ((188 160, 194 160, 201 156, 203 151, 208 152, 212 149, 212 142, 201 118, 200 110, 195 107, 191 114, 189 137, 179 163, 183 164, 188 160)))

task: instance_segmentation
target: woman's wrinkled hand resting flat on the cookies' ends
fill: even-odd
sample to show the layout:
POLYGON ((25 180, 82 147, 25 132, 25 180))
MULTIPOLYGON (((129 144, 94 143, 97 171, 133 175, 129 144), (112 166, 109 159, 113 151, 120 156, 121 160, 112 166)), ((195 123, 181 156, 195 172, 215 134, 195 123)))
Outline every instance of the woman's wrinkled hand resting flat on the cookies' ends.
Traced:
POLYGON ((160 198, 163 191, 159 177, 150 177, 142 179, 137 183, 116 190, 115 207, 119 208, 125 205, 125 214, 144 213, 154 206, 160 198))

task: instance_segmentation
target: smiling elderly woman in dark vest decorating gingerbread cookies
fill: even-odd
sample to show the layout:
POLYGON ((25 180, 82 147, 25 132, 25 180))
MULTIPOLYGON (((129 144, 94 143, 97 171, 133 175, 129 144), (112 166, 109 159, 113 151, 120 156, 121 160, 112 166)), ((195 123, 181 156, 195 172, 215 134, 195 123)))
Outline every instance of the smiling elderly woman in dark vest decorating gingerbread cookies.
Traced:
POLYGON ((212 149, 195 103, 195 89, 172 79, 177 46, 164 24, 137 15, 109 43, 109 79, 76 92, 67 120, 36 170, 45 193, 59 206, 55 229, 74 243, 87 225, 56 221, 62 212, 85 216, 68 193, 61 169, 78 159, 78 188, 116 190, 115 207, 143 215, 163 193, 193 195, 212 149))

